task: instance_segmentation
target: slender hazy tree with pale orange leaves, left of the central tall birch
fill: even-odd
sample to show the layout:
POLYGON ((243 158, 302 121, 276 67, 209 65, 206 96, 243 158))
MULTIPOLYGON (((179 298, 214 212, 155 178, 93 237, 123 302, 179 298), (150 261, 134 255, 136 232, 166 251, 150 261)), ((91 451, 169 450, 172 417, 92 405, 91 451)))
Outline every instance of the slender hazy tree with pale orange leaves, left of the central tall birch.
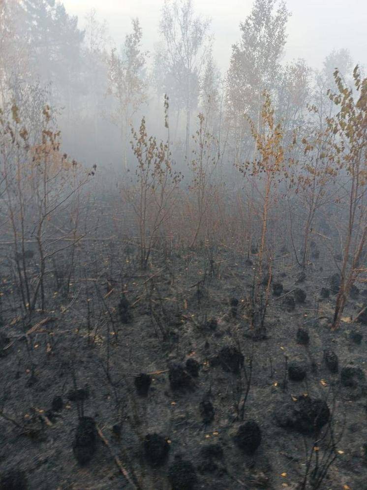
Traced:
POLYGON ((142 30, 139 20, 132 20, 133 31, 126 35, 122 53, 112 49, 108 63, 107 93, 117 101, 117 109, 111 120, 121 129, 123 142, 123 166, 127 168, 127 141, 129 125, 133 115, 147 100, 147 84, 144 80, 144 68, 147 53, 142 51, 142 30))

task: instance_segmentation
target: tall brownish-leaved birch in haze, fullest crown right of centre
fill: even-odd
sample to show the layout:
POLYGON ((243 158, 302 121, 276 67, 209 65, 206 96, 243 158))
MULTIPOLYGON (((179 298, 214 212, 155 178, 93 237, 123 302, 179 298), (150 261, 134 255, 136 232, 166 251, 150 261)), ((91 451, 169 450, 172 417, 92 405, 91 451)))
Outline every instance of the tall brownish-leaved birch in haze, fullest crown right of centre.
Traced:
POLYGON ((226 103, 235 136, 235 160, 243 159, 245 115, 259 130, 262 96, 271 91, 286 43, 289 12, 282 0, 255 0, 250 15, 240 24, 241 41, 232 46, 226 78, 226 103))

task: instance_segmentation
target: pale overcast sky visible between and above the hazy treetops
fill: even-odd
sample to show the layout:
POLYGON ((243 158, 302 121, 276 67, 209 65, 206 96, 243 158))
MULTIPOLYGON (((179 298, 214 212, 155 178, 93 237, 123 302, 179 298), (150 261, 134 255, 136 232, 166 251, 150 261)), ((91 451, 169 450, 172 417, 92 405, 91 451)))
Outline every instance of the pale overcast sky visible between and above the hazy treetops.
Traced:
MULTIPOLYGON (((62 1, 62 0, 61 0, 62 1)), ((163 0, 64 0, 66 10, 78 15, 80 27, 85 14, 94 8, 105 19, 117 46, 138 17, 143 29, 144 48, 153 51, 163 0)), ((224 72, 231 45, 240 38, 239 23, 251 10, 252 0, 194 0, 197 13, 212 20, 214 57, 224 72)), ((288 21, 285 60, 305 58, 313 67, 334 48, 348 48, 353 61, 367 64, 367 0, 288 0, 292 16, 288 21)))

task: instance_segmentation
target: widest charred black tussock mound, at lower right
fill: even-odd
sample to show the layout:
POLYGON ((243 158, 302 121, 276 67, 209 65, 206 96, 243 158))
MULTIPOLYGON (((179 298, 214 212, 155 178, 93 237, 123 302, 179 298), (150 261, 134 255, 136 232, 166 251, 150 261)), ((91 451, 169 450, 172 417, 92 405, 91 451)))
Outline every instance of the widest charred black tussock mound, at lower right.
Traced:
POLYGON ((302 395, 296 401, 281 404, 275 411, 275 418, 280 427, 305 434, 317 433, 329 422, 330 410, 321 398, 302 395))

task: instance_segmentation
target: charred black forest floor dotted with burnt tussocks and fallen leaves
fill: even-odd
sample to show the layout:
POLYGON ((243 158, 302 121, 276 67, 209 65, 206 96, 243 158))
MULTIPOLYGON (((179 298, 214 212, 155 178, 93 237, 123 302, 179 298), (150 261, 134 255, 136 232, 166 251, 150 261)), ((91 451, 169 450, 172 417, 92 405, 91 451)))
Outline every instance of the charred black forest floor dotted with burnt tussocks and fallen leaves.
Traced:
POLYGON ((4 262, 0 488, 366 489, 366 291, 333 332, 330 252, 302 283, 280 252, 262 339, 253 266, 228 247, 142 271, 133 244, 81 242, 69 293, 48 276, 31 323, 4 262))

